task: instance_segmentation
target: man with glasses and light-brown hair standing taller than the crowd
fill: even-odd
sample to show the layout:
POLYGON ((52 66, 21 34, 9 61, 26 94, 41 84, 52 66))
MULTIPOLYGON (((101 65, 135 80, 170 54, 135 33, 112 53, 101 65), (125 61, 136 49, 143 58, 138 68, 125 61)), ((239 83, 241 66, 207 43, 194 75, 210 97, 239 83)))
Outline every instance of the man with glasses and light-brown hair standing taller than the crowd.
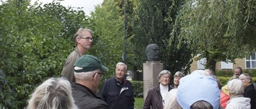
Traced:
POLYGON ((66 77, 70 82, 74 82, 74 63, 80 56, 86 54, 93 42, 93 32, 91 29, 78 29, 74 34, 75 48, 69 56, 67 56, 64 67, 62 68, 62 76, 66 77))

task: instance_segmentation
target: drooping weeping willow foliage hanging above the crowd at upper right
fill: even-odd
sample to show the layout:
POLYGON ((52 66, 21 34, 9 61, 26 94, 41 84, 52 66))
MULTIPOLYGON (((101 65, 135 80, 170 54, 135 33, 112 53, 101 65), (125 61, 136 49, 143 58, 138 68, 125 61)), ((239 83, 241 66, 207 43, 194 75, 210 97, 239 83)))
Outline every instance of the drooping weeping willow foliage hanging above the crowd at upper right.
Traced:
POLYGON ((255 51, 255 13, 254 0, 186 0, 172 36, 189 45, 194 55, 201 54, 197 59, 206 57, 206 68, 215 70, 217 61, 234 62, 255 51))

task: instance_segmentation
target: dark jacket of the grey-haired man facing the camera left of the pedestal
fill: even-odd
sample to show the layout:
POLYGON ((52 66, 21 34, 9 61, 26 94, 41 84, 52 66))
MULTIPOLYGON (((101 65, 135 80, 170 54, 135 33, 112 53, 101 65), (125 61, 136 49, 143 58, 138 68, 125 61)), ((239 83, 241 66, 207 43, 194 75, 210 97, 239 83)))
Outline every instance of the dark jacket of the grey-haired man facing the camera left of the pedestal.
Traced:
POLYGON ((134 88, 129 80, 119 83, 113 77, 104 81, 100 96, 110 109, 134 109, 134 88))

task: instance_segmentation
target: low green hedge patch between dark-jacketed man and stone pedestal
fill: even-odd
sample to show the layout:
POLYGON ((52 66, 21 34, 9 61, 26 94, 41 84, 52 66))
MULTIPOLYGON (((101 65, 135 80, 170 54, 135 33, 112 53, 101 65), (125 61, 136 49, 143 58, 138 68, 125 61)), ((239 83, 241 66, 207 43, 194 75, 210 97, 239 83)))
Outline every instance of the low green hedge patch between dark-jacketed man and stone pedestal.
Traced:
POLYGON ((134 87, 134 97, 143 98, 143 82, 142 81, 130 81, 134 87))

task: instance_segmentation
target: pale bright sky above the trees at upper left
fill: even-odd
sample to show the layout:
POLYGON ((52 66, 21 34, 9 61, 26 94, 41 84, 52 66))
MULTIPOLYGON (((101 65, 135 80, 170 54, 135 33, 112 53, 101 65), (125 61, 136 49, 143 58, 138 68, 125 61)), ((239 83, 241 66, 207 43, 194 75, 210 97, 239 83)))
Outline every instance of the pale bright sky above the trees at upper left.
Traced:
MULTIPOLYGON (((3 0, 3 1, 6 1, 6 0, 3 0)), ((34 2, 36 1, 37 0, 31 0, 31 4, 34 4, 34 2)), ((42 3, 53 2, 53 0, 38 0, 38 1, 42 3)), ((74 7, 74 10, 78 7, 83 7, 82 10, 84 10, 86 15, 90 15, 90 11, 94 11, 94 6, 102 4, 103 0, 63 0, 58 2, 61 2, 62 6, 74 7)))

